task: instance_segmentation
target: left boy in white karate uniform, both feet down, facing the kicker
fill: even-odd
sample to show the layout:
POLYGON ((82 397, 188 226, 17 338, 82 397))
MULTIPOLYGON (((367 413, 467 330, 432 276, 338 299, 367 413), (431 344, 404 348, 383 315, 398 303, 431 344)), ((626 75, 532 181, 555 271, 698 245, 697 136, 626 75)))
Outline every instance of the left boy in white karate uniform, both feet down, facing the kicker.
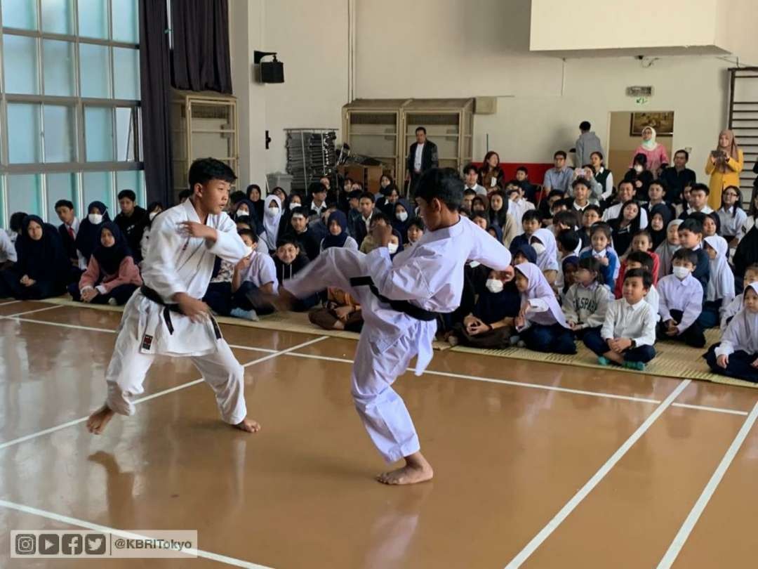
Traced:
POLYGON ((235 179, 223 162, 196 160, 189 168, 193 196, 152 222, 145 284, 124 308, 105 373, 108 396, 89 417, 89 432, 103 432, 114 413, 134 413, 130 399, 143 392, 145 375, 158 354, 191 357, 215 392, 221 418, 243 431, 260 429, 246 417, 244 369, 221 338, 208 306, 198 300, 211 281, 216 256, 236 263, 247 254, 236 225, 222 212, 235 179))

